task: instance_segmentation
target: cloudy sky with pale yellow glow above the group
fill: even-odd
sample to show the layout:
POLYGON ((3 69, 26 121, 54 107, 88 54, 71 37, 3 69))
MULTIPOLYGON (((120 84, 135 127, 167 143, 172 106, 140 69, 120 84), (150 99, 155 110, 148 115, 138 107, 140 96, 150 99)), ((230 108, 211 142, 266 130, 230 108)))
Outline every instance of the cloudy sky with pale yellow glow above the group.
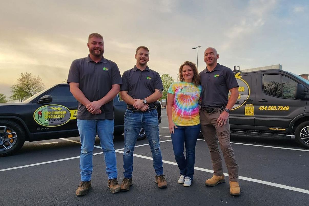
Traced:
POLYGON ((104 57, 121 74, 134 66, 135 49, 150 49, 151 69, 177 79, 186 60, 205 68, 203 51, 215 47, 218 62, 233 68, 281 64, 309 73, 307 0, 10 0, 0 2, 0 93, 22 72, 45 87, 67 78, 74 59, 87 56, 87 37, 103 35, 104 57))

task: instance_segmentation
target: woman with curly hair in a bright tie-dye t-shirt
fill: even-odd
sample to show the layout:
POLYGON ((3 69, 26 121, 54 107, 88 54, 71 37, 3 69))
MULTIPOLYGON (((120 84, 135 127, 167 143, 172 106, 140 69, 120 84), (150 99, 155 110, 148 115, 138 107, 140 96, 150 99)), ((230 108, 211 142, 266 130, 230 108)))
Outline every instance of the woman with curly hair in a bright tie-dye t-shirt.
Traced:
POLYGON ((178 183, 190 186, 193 180, 195 145, 201 131, 198 99, 202 87, 194 63, 186 61, 179 68, 179 80, 167 91, 167 118, 173 150, 180 170, 178 183), (184 146, 186 157, 184 157, 184 146))

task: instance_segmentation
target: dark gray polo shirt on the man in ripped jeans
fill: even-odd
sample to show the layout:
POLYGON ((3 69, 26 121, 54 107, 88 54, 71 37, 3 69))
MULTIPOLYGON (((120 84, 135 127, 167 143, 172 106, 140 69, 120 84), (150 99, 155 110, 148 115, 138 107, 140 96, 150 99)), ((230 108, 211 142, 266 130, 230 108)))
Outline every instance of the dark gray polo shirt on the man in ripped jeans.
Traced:
MULTIPOLYGON (((121 91, 128 91, 133 99, 144 99, 155 92, 155 89, 162 89, 163 84, 158 72, 151 70, 148 66, 141 71, 134 68, 125 71, 122 75, 121 91)), ((155 102, 149 102, 149 106, 156 105, 155 102)))

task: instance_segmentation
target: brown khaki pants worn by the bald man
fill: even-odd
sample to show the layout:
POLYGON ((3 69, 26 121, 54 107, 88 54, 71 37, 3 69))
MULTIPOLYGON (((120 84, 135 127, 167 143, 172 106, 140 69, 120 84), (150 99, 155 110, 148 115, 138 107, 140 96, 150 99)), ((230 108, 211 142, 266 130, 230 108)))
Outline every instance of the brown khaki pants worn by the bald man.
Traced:
POLYGON ((230 122, 227 120, 226 125, 218 126, 217 119, 222 111, 218 110, 214 113, 206 113, 200 110, 201 130, 204 139, 210 151, 211 161, 214 167, 214 175, 222 176, 222 159, 218 148, 218 140, 223 153, 229 179, 232 182, 238 182, 238 164, 235 160, 234 151, 231 147, 230 122))

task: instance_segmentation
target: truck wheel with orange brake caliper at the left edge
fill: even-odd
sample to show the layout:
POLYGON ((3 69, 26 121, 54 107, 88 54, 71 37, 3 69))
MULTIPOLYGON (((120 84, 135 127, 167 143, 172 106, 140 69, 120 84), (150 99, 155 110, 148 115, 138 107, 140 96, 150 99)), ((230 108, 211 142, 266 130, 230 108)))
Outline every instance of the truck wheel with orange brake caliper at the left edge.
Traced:
POLYGON ((24 129, 11 120, 0 120, 0 157, 18 151, 25 142, 24 129))

